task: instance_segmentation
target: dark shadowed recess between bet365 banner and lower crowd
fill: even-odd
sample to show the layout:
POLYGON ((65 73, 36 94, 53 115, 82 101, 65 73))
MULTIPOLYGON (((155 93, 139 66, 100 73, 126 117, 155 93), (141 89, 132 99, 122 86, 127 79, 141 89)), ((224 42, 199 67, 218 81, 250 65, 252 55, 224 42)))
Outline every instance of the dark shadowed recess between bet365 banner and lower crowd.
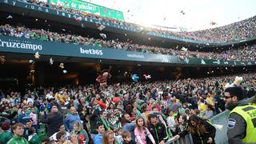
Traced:
POLYGON ((153 62, 125 62, 104 59, 64 58, 42 55, 34 60, 32 54, 1 54, 6 62, 0 64, 0 89, 26 90, 37 86, 78 86, 96 83, 102 70, 112 66, 108 83, 133 82, 131 74, 137 74, 139 82, 145 82, 143 74, 150 74, 152 81, 202 78, 226 74, 255 72, 255 66, 246 67, 199 67, 170 65, 153 62), (50 65, 49 59, 54 63, 50 65), (31 61, 33 60, 33 61, 31 61), (64 69, 59 65, 64 64, 64 69), (66 70, 64 74, 63 70, 66 70))

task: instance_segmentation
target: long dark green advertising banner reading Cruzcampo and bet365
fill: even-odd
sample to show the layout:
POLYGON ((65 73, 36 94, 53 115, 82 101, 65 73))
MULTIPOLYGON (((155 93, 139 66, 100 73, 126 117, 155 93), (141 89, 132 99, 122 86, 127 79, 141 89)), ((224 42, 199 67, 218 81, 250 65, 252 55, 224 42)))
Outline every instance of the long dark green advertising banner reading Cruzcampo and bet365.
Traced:
POLYGON ((96 58, 131 62, 158 62, 195 66, 253 66, 254 62, 223 61, 205 58, 184 58, 163 54, 146 54, 135 51, 115 50, 98 46, 83 46, 62 42, 48 42, 27 38, 0 36, 0 52, 96 58))

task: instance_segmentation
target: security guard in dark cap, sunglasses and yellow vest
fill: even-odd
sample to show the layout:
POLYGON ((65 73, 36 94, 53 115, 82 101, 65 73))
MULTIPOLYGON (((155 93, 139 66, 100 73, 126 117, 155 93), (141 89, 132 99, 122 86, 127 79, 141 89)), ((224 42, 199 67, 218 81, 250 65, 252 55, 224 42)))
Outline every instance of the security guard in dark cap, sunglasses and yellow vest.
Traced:
MULTIPOLYGON (((256 102, 239 102, 243 99, 240 86, 226 88, 224 95, 226 108, 231 110, 227 126, 228 142, 256 143, 256 102)), ((256 95, 254 97, 256 100, 256 95)))

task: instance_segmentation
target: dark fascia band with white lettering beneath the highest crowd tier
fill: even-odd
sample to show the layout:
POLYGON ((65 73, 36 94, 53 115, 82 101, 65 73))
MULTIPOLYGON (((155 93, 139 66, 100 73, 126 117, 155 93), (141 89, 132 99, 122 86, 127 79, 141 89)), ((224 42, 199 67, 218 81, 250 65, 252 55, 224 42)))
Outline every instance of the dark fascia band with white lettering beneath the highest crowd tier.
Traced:
MULTIPOLYGON (((29 5, 29 3, 27 3, 27 4, 29 5)), ((3 3, 0 5, 0 9, 2 11, 19 14, 19 15, 26 16, 26 17, 42 18, 42 19, 47 19, 47 20, 54 21, 54 22, 65 23, 65 24, 68 24, 71 26, 81 27, 81 23, 76 22, 74 20, 74 18, 62 17, 59 14, 50 14, 50 13, 42 12, 40 10, 31 10, 31 9, 28 9, 28 8, 25 8, 22 6, 12 6, 12 5, 3 4, 3 3)), ((82 24, 84 27, 86 27, 86 29, 89 28, 92 30, 97 30, 97 28, 99 26, 99 24, 94 23, 94 22, 83 22, 82 24)), ((140 32, 138 32, 138 31, 135 32, 135 31, 131 31, 131 30, 118 29, 118 28, 114 28, 111 26, 106 26, 104 31, 110 33, 113 38, 119 38, 120 34, 122 34, 122 35, 129 34, 130 38, 131 37, 136 37, 138 39, 151 38, 152 43, 153 42, 159 42, 159 43, 166 42, 166 44, 168 44, 169 46, 177 46, 177 45, 179 45, 180 47, 186 46, 190 50, 216 50, 216 48, 223 48, 223 50, 225 50, 226 47, 230 48, 230 47, 235 47, 235 46, 242 46, 242 45, 245 45, 245 43, 250 44, 250 43, 256 42, 256 38, 250 38, 250 39, 242 40, 242 41, 238 41, 238 42, 192 42, 190 40, 186 41, 184 39, 178 40, 178 39, 172 39, 172 38, 162 38, 162 37, 152 36, 152 35, 150 36, 150 35, 146 34, 146 31, 144 31, 144 30, 142 30, 140 32)))

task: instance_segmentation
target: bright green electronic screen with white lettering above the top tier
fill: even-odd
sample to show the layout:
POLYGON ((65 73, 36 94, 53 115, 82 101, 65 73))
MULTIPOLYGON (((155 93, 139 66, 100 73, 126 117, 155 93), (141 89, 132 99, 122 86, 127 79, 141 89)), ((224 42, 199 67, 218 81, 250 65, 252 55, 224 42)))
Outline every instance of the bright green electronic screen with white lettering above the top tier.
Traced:
POLYGON ((124 21, 122 11, 113 10, 104 6, 98 6, 90 2, 80 0, 50 0, 51 4, 69 7, 74 10, 81 10, 92 14, 98 14, 102 17, 114 18, 124 21))

